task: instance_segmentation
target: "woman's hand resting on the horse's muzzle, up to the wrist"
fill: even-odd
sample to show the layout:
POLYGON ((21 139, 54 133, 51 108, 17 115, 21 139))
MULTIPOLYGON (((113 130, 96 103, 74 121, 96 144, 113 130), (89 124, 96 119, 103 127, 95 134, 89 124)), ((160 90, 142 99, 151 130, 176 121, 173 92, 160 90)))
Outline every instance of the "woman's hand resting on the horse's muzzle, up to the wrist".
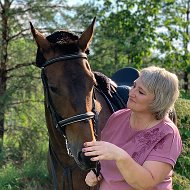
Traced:
POLYGON ((123 149, 105 141, 85 142, 82 151, 85 156, 92 156, 92 161, 119 160, 128 155, 123 149))

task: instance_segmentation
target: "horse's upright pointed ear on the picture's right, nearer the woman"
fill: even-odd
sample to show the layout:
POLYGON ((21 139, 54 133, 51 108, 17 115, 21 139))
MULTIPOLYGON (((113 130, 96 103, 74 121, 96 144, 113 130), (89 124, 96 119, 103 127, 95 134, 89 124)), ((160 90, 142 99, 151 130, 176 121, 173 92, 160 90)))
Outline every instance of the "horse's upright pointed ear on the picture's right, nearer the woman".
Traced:
POLYGON ((85 51, 92 41, 94 28, 95 28, 95 21, 96 17, 94 17, 92 23, 88 28, 82 33, 81 37, 78 40, 79 47, 82 49, 82 51, 85 51))

